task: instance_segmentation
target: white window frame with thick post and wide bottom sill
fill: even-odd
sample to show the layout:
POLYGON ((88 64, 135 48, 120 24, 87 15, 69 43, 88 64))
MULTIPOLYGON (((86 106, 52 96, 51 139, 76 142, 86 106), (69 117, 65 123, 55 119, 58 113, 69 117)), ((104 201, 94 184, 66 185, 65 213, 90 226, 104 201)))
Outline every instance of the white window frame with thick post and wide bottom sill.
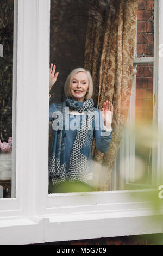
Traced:
MULTIPOLYGON (((163 14, 163 3, 158 3, 163 14)), ((149 200, 157 189, 48 195, 50 1, 15 0, 15 14, 16 197, 0 199, 0 243, 162 233, 163 208, 153 209, 149 200)), ((163 15, 158 22, 162 24, 163 15)), ((163 42, 159 28, 158 45, 163 42)), ((160 85, 162 68, 163 58, 158 56, 160 85)), ((158 86, 158 131, 163 134, 162 89, 158 86)), ((158 142, 158 170, 163 170, 162 151, 158 142)))

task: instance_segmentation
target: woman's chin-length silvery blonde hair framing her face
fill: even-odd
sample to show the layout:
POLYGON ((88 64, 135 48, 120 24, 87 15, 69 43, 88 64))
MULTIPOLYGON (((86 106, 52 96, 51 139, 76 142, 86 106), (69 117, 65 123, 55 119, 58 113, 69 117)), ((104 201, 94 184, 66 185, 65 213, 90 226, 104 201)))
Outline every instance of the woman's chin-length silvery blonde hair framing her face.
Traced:
POLYGON ((66 82, 65 82, 65 86, 64 86, 64 92, 65 92, 65 96, 66 97, 72 97, 71 92, 70 92, 70 84, 72 81, 72 77, 74 75, 76 75, 79 72, 84 72, 89 80, 89 90, 86 93, 85 99, 89 100, 91 99, 92 95, 93 95, 93 81, 92 81, 92 77, 91 74, 88 70, 84 69, 84 68, 77 68, 77 69, 73 69, 70 74, 67 76, 66 82))

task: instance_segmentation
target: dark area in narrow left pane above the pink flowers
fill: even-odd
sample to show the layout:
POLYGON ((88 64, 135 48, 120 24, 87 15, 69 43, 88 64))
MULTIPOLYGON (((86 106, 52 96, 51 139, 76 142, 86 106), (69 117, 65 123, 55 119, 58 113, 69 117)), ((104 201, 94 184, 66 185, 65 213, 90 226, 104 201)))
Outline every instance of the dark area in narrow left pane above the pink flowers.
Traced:
POLYGON ((0 139, 12 137, 12 69, 13 69, 14 2, 0 1, 0 139))

